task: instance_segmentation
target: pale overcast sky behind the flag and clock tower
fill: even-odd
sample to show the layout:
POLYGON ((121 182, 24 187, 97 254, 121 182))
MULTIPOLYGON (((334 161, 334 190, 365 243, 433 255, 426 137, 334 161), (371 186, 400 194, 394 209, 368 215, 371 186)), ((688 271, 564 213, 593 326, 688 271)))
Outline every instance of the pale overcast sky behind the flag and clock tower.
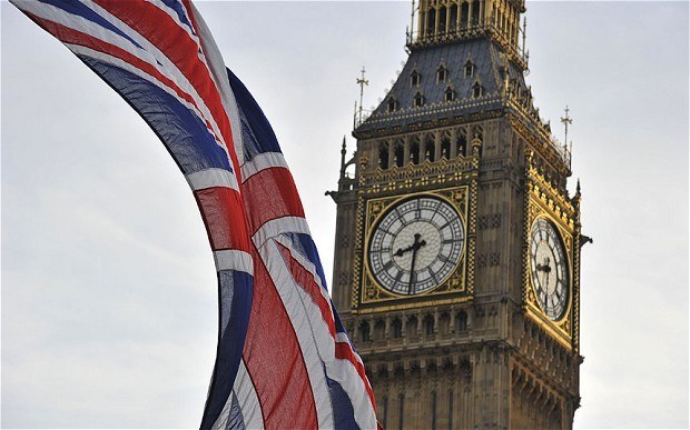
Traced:
MULTIPOLYGON (((203 2, 272 121, 326 273, 355 79, 395 79, 410 3, 203 2)), ((139 117, 1 4, 2 427, 197 427, 216 274, 191 192, 139 117)), ((688 3, 528 2, 535 104, 582 181, 578 428, 688 428, 688 3)))

